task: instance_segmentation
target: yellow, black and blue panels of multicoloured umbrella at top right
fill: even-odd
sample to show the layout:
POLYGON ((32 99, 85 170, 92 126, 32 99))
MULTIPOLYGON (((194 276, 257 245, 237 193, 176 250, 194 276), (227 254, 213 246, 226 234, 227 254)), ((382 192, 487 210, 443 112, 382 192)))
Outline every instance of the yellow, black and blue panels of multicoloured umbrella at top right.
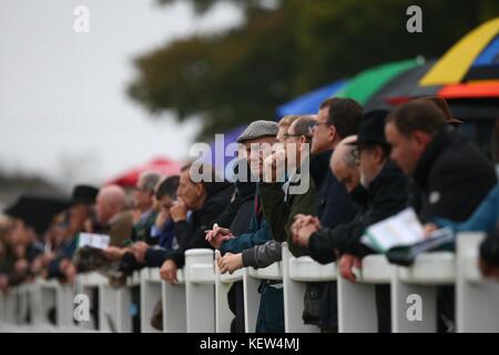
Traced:
POLYGON ((421 85, 458 84, 499 78, 499 18, 490 20, 459 40, 421 78, 421 85))

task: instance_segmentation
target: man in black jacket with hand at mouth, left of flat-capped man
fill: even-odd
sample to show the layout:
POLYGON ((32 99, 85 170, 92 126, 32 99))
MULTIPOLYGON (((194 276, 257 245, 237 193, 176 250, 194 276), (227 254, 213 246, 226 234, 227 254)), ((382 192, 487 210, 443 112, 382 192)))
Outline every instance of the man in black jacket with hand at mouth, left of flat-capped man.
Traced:
POLYGON ((215 171, 208 164, 193 163, 182 169, 177 201, 170 209, 179 248, 165 252, 165 262, 160 270, 163 280, 176 282, 176 270, 184 266, 185 251, 211 248, 205 240, 205 231, 217 222, 234 191, 231 183, 216 181, 215 171), (194 182, 192 176, 196 173, 207 175, 210 179, 194 182), (187 211, 192 212, 189 221, 187 211))

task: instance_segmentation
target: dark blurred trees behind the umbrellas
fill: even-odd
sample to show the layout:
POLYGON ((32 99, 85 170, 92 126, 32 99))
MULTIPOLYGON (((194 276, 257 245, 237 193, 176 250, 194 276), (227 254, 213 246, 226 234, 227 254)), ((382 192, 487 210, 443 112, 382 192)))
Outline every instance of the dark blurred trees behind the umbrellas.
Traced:
MULTIPOLYGON (((177 0, 156 0, 167 6, 177 0)), ((182 0, 185 1, 185 0, 182 0)), ((189 0, 198 16, 216 2, 189 0)), ((232 0, 241 27, 184 38, 135 59, 131 98, 153 113, 203 118, 200 139, 370 65, 438 58, 457 40, 499 14, 499 1, 232 0), (271 4, 271 6, 269 6, 271 4), (408 33, 406 10, 422 9, 422 33, 408 33)))

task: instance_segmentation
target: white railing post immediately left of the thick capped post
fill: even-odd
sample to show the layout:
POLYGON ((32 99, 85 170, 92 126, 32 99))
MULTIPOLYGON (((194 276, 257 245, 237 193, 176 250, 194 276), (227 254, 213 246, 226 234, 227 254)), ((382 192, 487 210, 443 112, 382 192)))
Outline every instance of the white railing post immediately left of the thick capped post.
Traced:
POLYGON ((185 276, 183 268, 176 271, 176 281, 179 283, 175 285, 166 281, 161 282, 164 333, 185 333, 187 331, 185 276))

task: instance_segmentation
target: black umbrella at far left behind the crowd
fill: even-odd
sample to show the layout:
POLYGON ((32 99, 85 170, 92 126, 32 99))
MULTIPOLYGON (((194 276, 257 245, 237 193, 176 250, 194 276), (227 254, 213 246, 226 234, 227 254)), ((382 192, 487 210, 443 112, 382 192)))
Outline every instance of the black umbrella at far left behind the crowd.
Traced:
POLYGON ((53 217, 70 206, 70 200, 47 195, 21 195, 4 213, 23 221, 39 234, 44 233, 53 217))

